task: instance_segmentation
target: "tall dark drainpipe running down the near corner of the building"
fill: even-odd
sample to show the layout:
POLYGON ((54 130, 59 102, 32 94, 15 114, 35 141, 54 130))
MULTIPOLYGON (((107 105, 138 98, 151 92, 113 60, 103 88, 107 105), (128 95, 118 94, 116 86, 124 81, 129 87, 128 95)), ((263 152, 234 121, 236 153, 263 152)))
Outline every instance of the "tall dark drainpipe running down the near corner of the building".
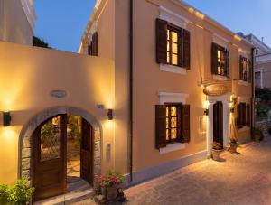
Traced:
POLYGON ((130 182, 133 181, 133 70, 134 70, 134 22, 133 22, 133 15, 134 15, 134 1, 130 0, 130 32, 129 32, 129 47, 130 47, 130 112, 129 112, 129 135, 130 135, 130 164, 129 164, 129 170, 130 170, 130 182))

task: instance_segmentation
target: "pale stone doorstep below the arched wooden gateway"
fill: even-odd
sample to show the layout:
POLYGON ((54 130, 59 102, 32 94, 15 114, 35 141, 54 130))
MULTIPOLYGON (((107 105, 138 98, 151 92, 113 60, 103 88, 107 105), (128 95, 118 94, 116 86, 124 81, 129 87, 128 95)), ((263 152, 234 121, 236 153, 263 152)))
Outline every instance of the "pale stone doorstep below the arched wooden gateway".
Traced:
POLYGON ((91 188, 84 191, 72 192, 62 194, 56 197, 52 197, 46 200, 40 200, 34 202, 34 205, 61 205, 61 204, 71 204, 78 202, 80 200, 86 200, 93 198, 95 195, 95 191, 91 188))

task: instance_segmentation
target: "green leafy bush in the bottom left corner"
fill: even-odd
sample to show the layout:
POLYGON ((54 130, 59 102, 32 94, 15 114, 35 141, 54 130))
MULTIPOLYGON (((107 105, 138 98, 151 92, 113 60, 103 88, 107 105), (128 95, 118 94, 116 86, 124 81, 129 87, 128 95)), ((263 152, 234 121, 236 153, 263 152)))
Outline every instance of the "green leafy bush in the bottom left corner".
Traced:
POLYGON ((14 186, 0 185, 0 204, 25 205, 31 199, 34 188, 26 179, 18 180, 14 186))

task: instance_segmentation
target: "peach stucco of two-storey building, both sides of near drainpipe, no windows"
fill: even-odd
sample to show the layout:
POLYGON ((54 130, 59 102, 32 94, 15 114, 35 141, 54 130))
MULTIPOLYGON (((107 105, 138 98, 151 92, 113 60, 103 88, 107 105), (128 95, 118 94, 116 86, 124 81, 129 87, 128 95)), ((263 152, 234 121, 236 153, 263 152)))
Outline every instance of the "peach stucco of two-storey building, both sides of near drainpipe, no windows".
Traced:
MULTIPOLYGON (((128 160, 118 159, 128 156, 128 76, 129 76, 129 1, 101 1, 100 12, 92 15, 92 25, 97 24, 99 56, 105 56, 116 62, 116 169, 128 172, 128 160), (104 8, 104 9, 102 9, 104 8), (98 19, 95 22, 95 19, 98 19), (108 41, 114 37, 114 42, 108 41), (112 49, 113 48, 113 49, 112 49), (117 131, 117 129, 119 129, 117 131), (119 145, 123 142, 123 146, 119 145)), ((176 18, 175 18, 176 20, 176 18)), ((91 24, 91 23, 90 23, 91 24)), ((89 32, 89 28, 86 33, 89 32)), ((239 51, 249 52, 251 45, 234 37, 228 29, 210 20, 204 14, 195 14, 195 10, 177 0, 135 0, 134 1, 134 140, 133 161, 134 172, 145 170, 161 163, 180 159, 183 156, 205 151, 207 135, 199 132, 199 119, 203 116, 206 96, 203 94, 200 81, 200 70, 204 79, 211 75, 211 42, 227 47, 230 52, 229 97, 235 95, 251 98, 251 84, 238 83, 239 51), (163 6, 173 16, 181 15, 187 20, 187 30, 191 32, 191 70, 186 75, 166 72, 159 69, 155 61, 155 19, 160 15, 163 6), (196 25, 197 24, 197 25, 196 25), (186 103, 191 105, 191 142, 185 148, 167 154, 160 154, 155 149, 155 105, 160 103, 159 92, 175 92, 188 94, 186 103)), ((86 40, 86 38, 83 38, 86 40)), ((83 44, 86 42, 83 42, 83 44)), ((222 82, 223 83, 223 82, 222 82)), ((230 98, 229 98, 230 101, 230 98)), ((238 113, 231 115, 237 117, 238 113)), ((235 120, 235 119, 233 119, 235 120)), ((232 125, 234 126, 234 125, 232 125)), ((241 142, 249 140, 249 129, 237 132, 241 142)), ((230 135, 234 135, 231 133, 230 135)))

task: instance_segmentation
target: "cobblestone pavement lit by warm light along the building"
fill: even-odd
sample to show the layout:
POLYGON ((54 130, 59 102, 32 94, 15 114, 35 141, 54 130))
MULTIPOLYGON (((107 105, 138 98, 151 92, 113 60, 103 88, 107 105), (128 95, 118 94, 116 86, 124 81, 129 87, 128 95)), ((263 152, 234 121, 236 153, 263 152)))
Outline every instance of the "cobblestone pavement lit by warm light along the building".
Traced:
MULTIPOLYGON (((125 191, 128 204, 271 205, 271 137, 205 160, 125 191)), ((84 200, 77 205, 95 204, 84 200)))

